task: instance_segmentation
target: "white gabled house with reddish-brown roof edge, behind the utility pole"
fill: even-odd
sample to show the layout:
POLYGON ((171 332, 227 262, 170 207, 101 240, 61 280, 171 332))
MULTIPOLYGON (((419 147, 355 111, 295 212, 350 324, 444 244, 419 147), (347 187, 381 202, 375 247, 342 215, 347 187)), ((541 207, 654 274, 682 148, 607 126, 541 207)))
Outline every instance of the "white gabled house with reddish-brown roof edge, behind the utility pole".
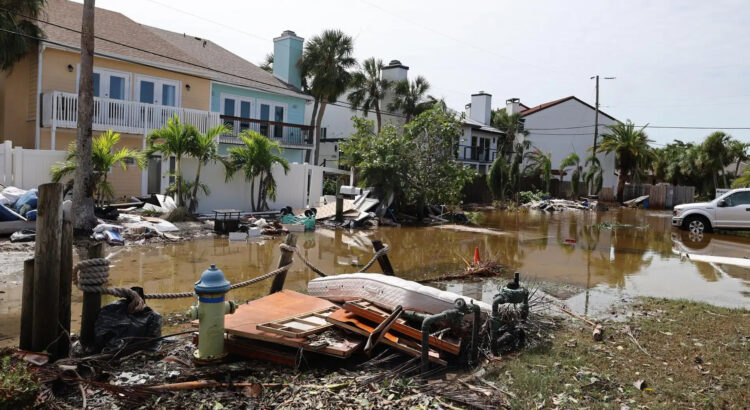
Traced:
MULTIPOLYGON (((581 165, 591 155, 588 150, 594 145, 594 106, 570 96, 531 108, 521 104, 518 98, 511 98, 506 101, 505 109, 509 114, 521 114, 524 129, 529 133, 526 140, 531 141, 531 149, 539 148, 552 154, 553 173, 559 175, 560 162, 572 152, 578 154, 581 165)), ((597 143, 601 142, 601 135, 607 132, 607 126, 618 122, 611 115, 599 111, 597 143)), ((602 186, 614 187, 617 184, 615 156, 597 154, 597 157, 603 169, 602 186)))

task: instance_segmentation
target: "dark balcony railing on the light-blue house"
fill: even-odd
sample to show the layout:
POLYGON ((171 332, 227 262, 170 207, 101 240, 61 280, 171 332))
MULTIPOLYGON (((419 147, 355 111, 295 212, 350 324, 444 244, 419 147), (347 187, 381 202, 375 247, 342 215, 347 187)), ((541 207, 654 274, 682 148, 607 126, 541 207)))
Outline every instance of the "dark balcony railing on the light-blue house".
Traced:
POLYGON ((232 130, 231 134, 219 137, 219 142, 225 144, 241 144, 242 140, 237 138, 237 135, 246 130, 255 131, 273 141, 277 141, 282 146, 309 148, 313 143, 314 127, 309 125, 264 121, 231 115, 222 115, 221 121, 232 130))

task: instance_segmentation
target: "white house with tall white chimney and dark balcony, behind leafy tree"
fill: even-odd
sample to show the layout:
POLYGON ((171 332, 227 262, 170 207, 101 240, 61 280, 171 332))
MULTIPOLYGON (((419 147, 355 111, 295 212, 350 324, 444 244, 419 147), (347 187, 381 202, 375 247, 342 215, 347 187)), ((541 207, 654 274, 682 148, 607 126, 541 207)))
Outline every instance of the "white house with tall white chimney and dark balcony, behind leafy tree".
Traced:
POLYGON ((466 104, 463 119, 463 135, 458 145, 457 158, 474 168, 480 175, 486 174, 497 157, 498 139, 505 134, 490 124, 492 95, 480 91, 471 95, 466 104))

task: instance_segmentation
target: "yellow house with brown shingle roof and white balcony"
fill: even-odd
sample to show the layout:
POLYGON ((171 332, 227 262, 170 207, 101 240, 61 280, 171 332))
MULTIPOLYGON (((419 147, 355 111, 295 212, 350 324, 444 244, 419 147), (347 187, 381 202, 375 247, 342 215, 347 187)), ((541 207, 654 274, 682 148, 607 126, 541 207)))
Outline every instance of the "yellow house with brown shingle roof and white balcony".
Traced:
MULTIPOLYGON (((44 41, 0 74, 0 140, 42 150, 65 150, 75 141, 82 8, 49 0, 39 23, 44 41)), ((298 98, 302 109, 309 98, 208 40, 141 25, 120 13, 97 8, 95 35, 94 136, 111 129, 124 146, 145 148, 148 133, 173 115, 202 132, 219 124, 223 109, 211 109, 215 86, 298 98)), ((144 171, 134 165, 114 169, 109 180, 116 196, 163 192, 173 161, 152 157, 148 165, 144 171)))

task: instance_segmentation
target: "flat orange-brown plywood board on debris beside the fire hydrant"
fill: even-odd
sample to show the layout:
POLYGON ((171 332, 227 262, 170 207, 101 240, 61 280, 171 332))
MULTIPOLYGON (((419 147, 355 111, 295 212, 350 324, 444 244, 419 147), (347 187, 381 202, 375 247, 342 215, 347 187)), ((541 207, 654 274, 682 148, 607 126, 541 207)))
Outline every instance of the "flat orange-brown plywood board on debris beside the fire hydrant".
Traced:
POLYGON ((349 357, 360 348, 363 341, 345 338, 337 343, 315 347, 311 346, 307 338, 304 337, 287 337, 258 329, 258 325, 260 324, 335 306, 325 299, 304 295, 291 290, 282 290, 281 292, 276 292, 240 305, 234 314, 224 316, 224 328, 230 335, 302 348, 331 356, 349 357))

